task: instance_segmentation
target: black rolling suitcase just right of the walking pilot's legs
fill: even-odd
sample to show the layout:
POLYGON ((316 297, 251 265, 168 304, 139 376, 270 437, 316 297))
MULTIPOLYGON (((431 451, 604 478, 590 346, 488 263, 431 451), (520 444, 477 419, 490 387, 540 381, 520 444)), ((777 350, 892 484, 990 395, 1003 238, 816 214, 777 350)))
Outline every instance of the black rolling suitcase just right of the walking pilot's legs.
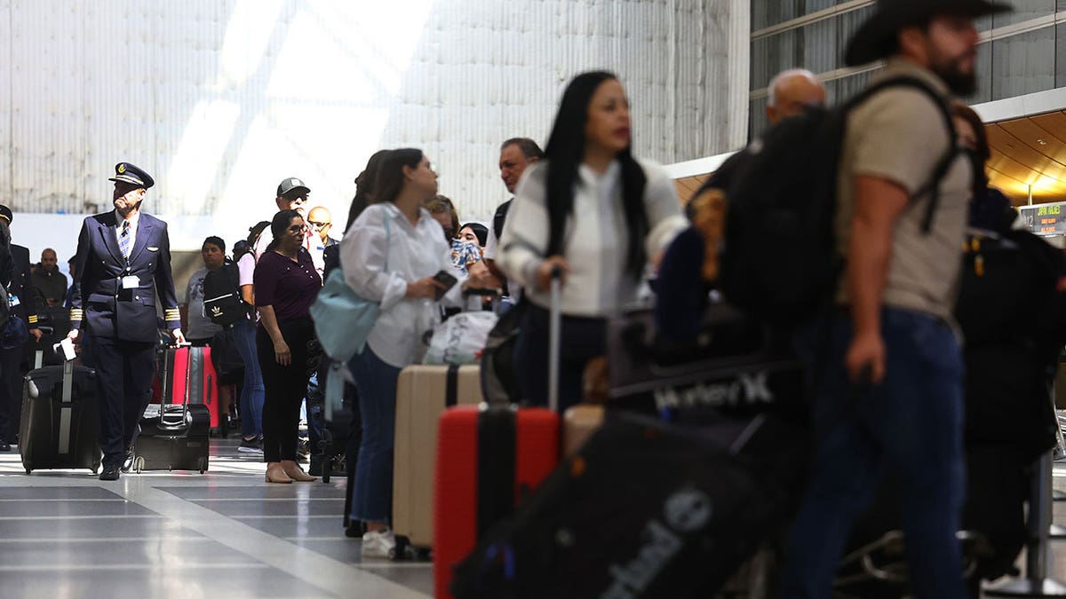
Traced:
POLYGON ((133 443, 133 470, 208 470, 211 435, 211 411, 207 405, 189 403, 192 370, 176 372, 184 376, 184 394, 180 404, 172 403, 173 376, 168 368, 173 359, 164 362, 162 403, 148 404, 141 417, 141 433, 133 443), (182 374, 183 372, 183 374, 182 374))

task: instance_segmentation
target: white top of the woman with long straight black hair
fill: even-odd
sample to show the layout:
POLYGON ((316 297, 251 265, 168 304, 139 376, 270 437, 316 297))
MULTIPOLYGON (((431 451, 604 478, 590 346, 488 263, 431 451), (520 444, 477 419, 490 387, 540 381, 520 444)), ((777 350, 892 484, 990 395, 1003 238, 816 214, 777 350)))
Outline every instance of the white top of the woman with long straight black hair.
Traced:
MULTIPOLYGON (((674 181, 658 164, 639 161, 647 179, 644 208, 649 232, 644 247, 650 258, 689 226, 674 181)), ((530 300, 550 306, 550 293, 536 288, 536 269, 548 248, 546 204, 548 161, 522 174, 507 212, 497 263, 508 280, 526 288, 530 300)), ((626 269, 626 214, 621 199, 621 165, 614 161, 603 175, 582 164, 574 189, 574 212, 566 221, 561 254, 569 265, 563 285, 563 313, 602 318, 618 313, 637 298, 641 281, 626 269)))

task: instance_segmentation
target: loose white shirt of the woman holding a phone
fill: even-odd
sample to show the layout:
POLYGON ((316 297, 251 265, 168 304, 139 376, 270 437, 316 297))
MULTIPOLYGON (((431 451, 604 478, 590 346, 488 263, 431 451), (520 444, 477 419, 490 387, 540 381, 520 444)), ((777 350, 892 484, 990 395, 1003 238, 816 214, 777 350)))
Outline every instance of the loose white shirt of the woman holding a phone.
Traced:
MULTIPOLYGON (((349 287, 367 300, 381 302, 381 312, 367 343, 391 366, 403 368, 414 363, 422 335, 440 320, 440 312, 433 300, 405 297, 407 284, 439 271, 462 280, 440 224, 424 209, 420 210, 418 224, 413 226, 392 203, 372 205, 344 232, 340 263, 349 287)), ((459 297, 456 284, 441 302, 457 305, 459 297)))

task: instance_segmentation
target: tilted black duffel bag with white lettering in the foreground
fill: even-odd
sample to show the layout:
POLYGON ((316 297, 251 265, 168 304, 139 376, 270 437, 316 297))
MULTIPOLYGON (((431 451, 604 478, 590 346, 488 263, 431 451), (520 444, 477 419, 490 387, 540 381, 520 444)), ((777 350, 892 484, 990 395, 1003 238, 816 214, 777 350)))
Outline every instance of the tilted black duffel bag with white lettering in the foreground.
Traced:
POLYGON ((452 593, 708 597, 790 519, 807 448, 776 414, 678 426, 609 412, 455 567, 452 593))

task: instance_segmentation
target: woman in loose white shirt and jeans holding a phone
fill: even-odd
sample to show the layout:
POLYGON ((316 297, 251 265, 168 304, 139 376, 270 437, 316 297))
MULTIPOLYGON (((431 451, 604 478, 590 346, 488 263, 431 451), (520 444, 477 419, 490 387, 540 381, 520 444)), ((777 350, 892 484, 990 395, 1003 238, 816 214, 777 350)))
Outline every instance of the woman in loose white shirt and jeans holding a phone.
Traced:
MULTIPOLYGON (((437 193, 437 174, 418 149, 397 149, 382 160, 374 203, 341 242, 344 281, 360 296, 381 302, 362 353, 349 368, 358 390, 362 440, 355 470, 352 518, 367 524, 365 557, 386 557, 395 540, 392 507, 392 440, 397 379, 416 360, 419 340, 438 319, 440 271, 458 278, 440 225, 422 207, 437 193)), ((445 295, 457 304, 459 286, 445 295)))

